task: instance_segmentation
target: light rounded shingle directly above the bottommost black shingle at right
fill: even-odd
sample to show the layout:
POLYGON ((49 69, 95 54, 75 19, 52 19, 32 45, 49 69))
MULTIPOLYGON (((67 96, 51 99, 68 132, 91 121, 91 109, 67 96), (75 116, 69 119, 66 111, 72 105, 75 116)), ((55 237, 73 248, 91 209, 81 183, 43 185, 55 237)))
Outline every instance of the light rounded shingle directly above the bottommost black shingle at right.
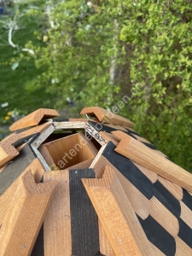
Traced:
POLYGON ((173 237, 177 236, 177 218, 154 196, 150 199, 150 215, 173 237))

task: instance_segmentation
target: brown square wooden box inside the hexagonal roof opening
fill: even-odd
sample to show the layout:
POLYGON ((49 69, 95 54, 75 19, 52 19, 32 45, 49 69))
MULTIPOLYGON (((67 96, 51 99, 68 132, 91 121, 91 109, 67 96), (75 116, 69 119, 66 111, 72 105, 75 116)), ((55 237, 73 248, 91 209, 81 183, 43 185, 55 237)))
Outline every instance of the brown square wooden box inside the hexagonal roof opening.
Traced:
POLYGON ((83 132, 63 137, 44 145, 49 151, 55 166, 61 170, 85 160, 93 159, 98 153, 93 143, 86 140, 83 132))

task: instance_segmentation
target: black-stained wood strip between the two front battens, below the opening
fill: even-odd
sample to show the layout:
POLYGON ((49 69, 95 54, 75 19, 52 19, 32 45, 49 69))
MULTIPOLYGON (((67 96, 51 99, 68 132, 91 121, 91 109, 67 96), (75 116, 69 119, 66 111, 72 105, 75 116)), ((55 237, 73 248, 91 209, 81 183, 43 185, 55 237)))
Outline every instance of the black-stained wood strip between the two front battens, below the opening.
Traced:
POLYGON ((93 178, 92 169, 69 172, 72 254, 95 256, 99 253, 98 218, 81 178, 93 178))

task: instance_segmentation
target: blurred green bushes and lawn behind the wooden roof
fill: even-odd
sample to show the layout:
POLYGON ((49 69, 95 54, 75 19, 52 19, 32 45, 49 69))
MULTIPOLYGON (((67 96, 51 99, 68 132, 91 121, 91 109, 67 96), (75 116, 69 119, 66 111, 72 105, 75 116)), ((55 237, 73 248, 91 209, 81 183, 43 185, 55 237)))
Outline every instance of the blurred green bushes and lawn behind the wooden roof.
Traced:
MULTIPOLYGON (((75 111, 110 109, 129 96, 119 114, 192 172, 191 4, 17 1, 6 19, 17 15, 25 28, 15 29, 19 47, 1 46, 0 102, 9 102, 1 116, 14 108, 20 114, 61 110, 67 101, 75 102, 75 111)), ((9 29, 1 32, 8 42, 9 29)))

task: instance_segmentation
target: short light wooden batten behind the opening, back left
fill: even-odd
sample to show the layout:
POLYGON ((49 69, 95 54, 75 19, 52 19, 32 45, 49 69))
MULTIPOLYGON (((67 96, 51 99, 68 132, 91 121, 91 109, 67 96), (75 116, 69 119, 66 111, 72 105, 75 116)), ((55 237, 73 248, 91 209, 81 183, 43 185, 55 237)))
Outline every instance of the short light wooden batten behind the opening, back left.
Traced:
POLYGON ((38 125, 43 119, 51 119, 59 116, 55 109, 39 108, 38 110, 26 115, 24 118, 19 119, 9 127, 10 131, 16 131, 26 127, 38 125))

